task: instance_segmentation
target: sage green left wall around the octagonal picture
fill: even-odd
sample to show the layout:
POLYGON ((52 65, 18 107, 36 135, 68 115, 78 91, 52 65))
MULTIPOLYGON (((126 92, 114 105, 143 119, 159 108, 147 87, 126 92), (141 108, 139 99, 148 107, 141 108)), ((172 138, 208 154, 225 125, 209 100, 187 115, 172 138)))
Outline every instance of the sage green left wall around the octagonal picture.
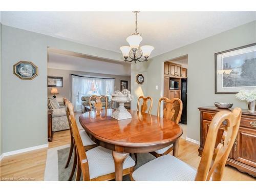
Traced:
POLYGON ((122 54, 2 25, 2 153, 47 143, 47 48, 122 60, 122 54), (13 74, 13 65, 32 61, 33 80, 13 74))

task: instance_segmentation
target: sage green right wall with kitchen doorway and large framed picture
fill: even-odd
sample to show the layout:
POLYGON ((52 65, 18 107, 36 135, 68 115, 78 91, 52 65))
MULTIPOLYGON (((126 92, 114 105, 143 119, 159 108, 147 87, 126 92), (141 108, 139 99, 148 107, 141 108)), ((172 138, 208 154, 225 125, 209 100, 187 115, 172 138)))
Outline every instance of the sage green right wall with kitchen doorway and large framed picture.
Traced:
MULTIPOLYGON (((170 30, 170 32, 171 31, 172 30, 170 30)), ((150 59, 145 69, 147 73, 147 88, 145 94, 153 97, 152 114, 157 113, 158 99, 162 96, 163 61, 183 55, 188 55, 188 138, 200 141, 200 115, 197 109, 199 106, 214 105, 214 101, 221 101, 231 102, 234 104, 234 107, 239 106, 246 109, 246 103, 237 100, 234 95, 215 94, 214 54, 252 44, 253 42, 256 42, 256 21, 150 59), (158 86, 158 90, 155 89, 155 86, 158 86)), ((172 44, 172 42, 170 42, 170 44, 172 44)), ((132 73, 136 74, 140 71, 141 70, 132 70, 132 73)))

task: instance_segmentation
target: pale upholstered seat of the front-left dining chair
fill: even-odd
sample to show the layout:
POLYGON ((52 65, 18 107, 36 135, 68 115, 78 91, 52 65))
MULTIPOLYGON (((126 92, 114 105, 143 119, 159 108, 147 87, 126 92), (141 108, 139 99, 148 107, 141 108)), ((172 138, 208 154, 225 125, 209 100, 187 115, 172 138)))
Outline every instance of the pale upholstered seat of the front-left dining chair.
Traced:
MULTIPOLYGON (((112 156, 112 151, 101 146, 97 146, 86 152, 89 162, 90 179, 99 176, 115 173, 115 163, 112 156)), ((127 156, 123 163, 123 169, 133 167, 135 161, 130 156, 127 156)))

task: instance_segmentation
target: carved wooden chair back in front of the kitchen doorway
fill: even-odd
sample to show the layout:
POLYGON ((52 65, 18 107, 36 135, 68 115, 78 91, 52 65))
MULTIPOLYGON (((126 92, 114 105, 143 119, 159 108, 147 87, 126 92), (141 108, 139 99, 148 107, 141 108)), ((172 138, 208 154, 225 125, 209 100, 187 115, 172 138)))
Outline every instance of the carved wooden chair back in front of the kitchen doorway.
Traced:
POLYGON ((163 118, 172 120, 174 115, 178 113, 175 122, 178 124, 180 122, 183 104, 179 98, 168 99, 166 97, 162 97, 158 101, 158 109, 157 109, 157 116, 160 117, 160 106, 161 101, 164 101, 164 109, 163 109, 163 118), (179 103, 179 109, 176 107, 179 103))

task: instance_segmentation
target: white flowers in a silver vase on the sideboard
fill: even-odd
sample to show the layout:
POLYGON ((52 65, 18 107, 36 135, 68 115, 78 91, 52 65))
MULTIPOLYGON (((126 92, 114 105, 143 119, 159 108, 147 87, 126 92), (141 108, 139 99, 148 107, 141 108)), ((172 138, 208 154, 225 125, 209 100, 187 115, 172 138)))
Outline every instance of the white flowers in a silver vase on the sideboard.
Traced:
POLYGON ((241 101, 247 101, 248 109, 250 112, 255 112, 256 105, 256 89, 253 90, 240 90, 236 98, 241 101))

